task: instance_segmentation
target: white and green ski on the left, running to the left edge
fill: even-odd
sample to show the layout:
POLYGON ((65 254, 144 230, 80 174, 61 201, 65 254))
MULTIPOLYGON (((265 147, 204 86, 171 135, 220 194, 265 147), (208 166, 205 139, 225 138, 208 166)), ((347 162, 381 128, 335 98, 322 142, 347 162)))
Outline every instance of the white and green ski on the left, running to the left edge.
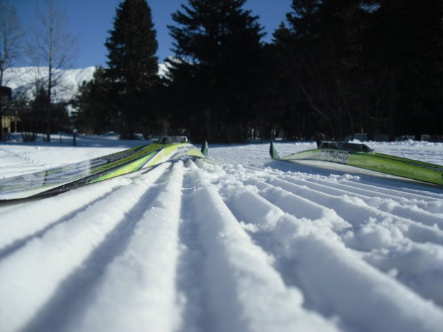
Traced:
POLYGON ((115 154, 81 161, 31 174, 0 180, 0 201, 58 194, 108 178, 150 169, 181 157, 206 158, 208 145, 201 150, 184 136, 164 136, 159 142, 115 154))

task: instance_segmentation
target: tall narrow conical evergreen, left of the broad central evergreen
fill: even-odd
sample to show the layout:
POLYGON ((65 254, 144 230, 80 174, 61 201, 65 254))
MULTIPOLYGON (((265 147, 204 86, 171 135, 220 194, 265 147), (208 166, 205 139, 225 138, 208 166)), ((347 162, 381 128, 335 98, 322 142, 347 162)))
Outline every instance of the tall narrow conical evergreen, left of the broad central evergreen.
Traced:
POLYGON ((120 114, 123 138, 134 137, 143 118, 149 116, 150 90, 157 82, 158 44, 146 0, 125 0, 118 5, 108 48, 107 97, 120 114))

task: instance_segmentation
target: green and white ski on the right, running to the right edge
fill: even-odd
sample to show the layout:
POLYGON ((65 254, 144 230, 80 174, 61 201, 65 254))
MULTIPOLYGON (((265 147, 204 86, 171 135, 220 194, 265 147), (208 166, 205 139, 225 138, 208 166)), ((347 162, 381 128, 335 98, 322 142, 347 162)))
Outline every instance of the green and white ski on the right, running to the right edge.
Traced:
POLYGON ((374 172, 410 178, 435 185, 443 185, 443 166, 419 160, 379 154, 367 145, 347 142, 322 142, 317 149, 300 151, 280 157, 271 142, 269 149, 275 160, 320 160, 338 163, 374 172))

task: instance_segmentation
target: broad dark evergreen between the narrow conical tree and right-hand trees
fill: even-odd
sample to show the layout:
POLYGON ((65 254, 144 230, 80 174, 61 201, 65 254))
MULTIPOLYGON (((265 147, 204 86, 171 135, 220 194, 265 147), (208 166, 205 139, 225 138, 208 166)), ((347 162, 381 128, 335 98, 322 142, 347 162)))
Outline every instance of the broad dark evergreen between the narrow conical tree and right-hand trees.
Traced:
POLYGON ((244 141, 257 118, 262 28, 246 0, 189 0, 168 26, 176 57, 171 91, 179 93, 182 124, 210 140, 244 141))

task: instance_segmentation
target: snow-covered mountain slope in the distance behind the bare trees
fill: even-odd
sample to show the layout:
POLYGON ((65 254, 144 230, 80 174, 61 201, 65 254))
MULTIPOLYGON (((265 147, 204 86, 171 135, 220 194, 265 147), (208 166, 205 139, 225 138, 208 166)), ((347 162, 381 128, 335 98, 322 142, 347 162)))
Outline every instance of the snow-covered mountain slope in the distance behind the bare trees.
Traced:
MULTIPOLYGON (((57 70, 53 79, 57 81, 53 89, 54 101, 66 101, 74 97, 78 92, 78 86, 82 82, 89 82, 93 78, 96 67, 80 69, 57 70)), ((165 64, 159 64, 159 75, 164 75, 165 64)), ((12 89, 12 95, 26 95, 34 98, 36 83, 48 81, 47 67, 19 67, 8 68, 3 76, 3 85, 12 89)))

